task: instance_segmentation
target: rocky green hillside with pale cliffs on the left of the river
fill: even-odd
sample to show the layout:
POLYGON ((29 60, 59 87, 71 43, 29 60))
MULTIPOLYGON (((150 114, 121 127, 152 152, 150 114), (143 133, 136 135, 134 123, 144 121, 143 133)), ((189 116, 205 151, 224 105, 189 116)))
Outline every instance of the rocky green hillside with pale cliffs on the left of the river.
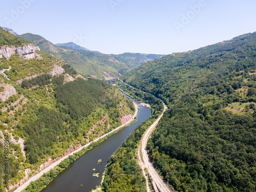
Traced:
POLYGON ((121 125, 131 100, 0 27, 0 191, 121 125), (20 47, 19 47, 20 46, 20 47), (11 50, 11 52, 10 52, 11 50), (5 176, 5 177, 4 177, 5 176))

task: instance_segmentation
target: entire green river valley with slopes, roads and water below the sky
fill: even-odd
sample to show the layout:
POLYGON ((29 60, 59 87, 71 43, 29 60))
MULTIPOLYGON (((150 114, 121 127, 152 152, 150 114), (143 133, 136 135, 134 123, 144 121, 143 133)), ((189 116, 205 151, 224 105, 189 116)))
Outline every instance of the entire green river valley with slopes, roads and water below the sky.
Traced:
POLYGON ((168 55, 0 37, 0 191, 255 191, 256 32, 168 55))

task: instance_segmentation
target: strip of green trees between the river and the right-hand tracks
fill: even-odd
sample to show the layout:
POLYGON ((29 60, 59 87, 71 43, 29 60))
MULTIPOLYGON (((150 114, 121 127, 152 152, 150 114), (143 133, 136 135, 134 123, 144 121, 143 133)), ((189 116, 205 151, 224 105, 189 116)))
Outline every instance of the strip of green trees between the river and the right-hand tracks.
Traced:
POLYGON ((152 116, 142 122, 123 142, 119 149, 109 158, 102 183, 103 191, 146 191, 146 180, 137 164, 136 150, 147 127, 163 112, 163 104, 152 94, 141 94, 121 81, 115 81, 123 92, 138 100, 151 104, 152 116), (140 94, 140 97, 136 96, 140 94))

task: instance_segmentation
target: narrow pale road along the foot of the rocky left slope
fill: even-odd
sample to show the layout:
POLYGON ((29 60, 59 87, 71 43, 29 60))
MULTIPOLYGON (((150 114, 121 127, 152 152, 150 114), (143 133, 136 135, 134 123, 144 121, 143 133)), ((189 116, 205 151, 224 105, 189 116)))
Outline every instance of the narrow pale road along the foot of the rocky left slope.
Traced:
POLYGON ((44 175, 44 173, 49 172, 52 168, 54 168, 55 166, 57 166, 61 161, 63 161, 64 159, 68 158, 70 155, 74 155, 75 153, 81 151, 83 148, 88 147, 92 142, 96 142, 96 141, 98 141, 99 139, 102 139, 103 137, 106 137, 106 136, 110 135, 111 133, 113 133, 113 132, 119 130, 121 127, 123 127, 123 126, 125 126, 125 125, 131 123, 131 122, 134 120, 134 118, 137 116, 137 114, 138 114, 138 106, 137 106, 137 104, 135 104, 135 103, 134 103, 134 105, 135 105, 135 109, 136 109, 136 110, 135 110, 135 113, 134 113, 133 117, 132 117, 129 121, 127 121, 126 123, 124 123, 124 124, 122 124, 121 126, 117 127, 116 129, 112 130, 111 132, 106 133, 105 135, 102 135, 101 137, 99 137, 99 138, 97 138, 97 139, 91 141, 90 143, 81 146, 80 148, 78 148, 76 151, 70 153, 69 155, 67 155, 67 156, 65 156, 65 157, 62 157, 61 159, 59 159, 59 160, 56 161, 55 163, 53 163, 53 164, 51 164, 50 166, 48 166, 47 168, 45 168, 44 170, 42 170, 40 173, 38 173, 37 175, 35 175, 35 176, 32 177, 31 179, 29 179, 26 183, 24 183, 23 185, 20 185, 14 192, 20 192, 20 191, 24 190, 24 189, 30 184, 30 182, 39 179, 42 175, 44 175))

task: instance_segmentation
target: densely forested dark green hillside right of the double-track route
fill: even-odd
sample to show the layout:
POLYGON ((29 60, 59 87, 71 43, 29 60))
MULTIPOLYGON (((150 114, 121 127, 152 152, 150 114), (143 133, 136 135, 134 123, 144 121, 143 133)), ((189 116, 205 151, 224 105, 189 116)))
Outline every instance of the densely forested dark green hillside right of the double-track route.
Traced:
POLYGON ((178 191, 255 191, 256 32, 142 64, 121 79, 168 104, 151 158, 178 191))

